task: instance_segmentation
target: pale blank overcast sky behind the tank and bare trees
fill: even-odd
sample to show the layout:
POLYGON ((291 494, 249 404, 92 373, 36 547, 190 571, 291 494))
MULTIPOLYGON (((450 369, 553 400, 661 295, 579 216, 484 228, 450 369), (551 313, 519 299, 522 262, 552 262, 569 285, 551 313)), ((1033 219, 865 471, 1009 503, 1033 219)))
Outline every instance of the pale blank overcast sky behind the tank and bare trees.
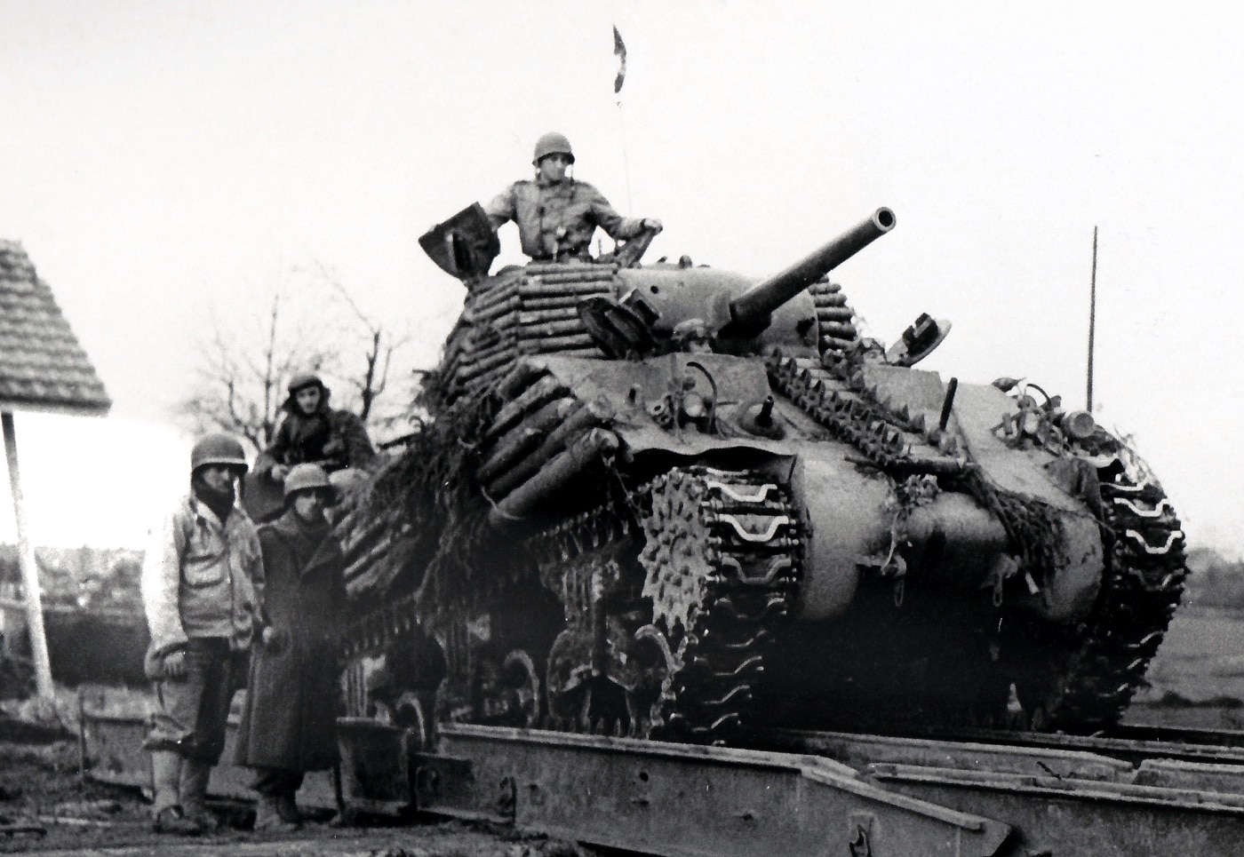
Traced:
POLYGON ((296 267, 433 364, 462 287, 415 238, 559 129, 578 178, 664 221, 653 259, 763 275, 889 205, 836 275, 866 333, 950 318, 922 368, 1077 404, 1098 226, 1096 415, 1193 545, 1239 555, 1239 25, 1220 2, 0 0, 0 236, 116 401, 19 417, 35 540, 141 544, 185 484, 170 405, 207 320, 249 330, 296 267))

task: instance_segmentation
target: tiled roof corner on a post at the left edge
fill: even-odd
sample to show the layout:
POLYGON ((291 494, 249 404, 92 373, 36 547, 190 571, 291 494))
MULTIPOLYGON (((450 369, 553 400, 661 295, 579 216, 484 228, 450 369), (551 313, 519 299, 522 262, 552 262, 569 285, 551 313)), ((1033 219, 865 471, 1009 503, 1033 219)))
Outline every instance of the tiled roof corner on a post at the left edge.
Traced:
POLYGON ((0 239, 0 409, 107 413, 103 382, 16 241, 0 239))

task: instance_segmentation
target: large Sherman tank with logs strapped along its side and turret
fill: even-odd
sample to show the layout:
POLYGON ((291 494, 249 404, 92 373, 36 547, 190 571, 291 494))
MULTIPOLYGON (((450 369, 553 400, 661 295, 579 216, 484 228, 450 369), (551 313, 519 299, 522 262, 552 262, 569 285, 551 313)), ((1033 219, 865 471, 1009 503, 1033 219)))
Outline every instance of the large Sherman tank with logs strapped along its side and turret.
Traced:
POLYGON ((1040 387, 914 368, 829 274, 886 208, 760 281, 644 240, 466 286, 423 428, 342 511, 358 714, 730 743, 754 726, 1092 733, 1187 573, 1132 449, 1040 387))

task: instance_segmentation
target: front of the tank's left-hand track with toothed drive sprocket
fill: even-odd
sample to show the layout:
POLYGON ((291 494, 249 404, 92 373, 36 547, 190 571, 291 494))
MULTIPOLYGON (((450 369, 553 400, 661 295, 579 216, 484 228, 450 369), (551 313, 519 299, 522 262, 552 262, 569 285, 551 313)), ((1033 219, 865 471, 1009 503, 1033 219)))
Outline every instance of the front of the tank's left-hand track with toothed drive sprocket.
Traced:
MULTIPOLYGON (((679 468, 537 537, 541 580, 617 537, 632 516, 643 535, 633 578, 651 621, 633 631, 664 652, 649 719, 633 734, 724 743, 746 719, 769 642, 801 577, 802 531, 789 493, 748 471, 679 468), (636 581, 637 582, 637 581, 636 581)), ((638 547, 638 539, 636 539, 638 547)), ((647 617, 646 617, 647 618, 647 617)), ((643 619, 641 619, 643 621, 643 619)))

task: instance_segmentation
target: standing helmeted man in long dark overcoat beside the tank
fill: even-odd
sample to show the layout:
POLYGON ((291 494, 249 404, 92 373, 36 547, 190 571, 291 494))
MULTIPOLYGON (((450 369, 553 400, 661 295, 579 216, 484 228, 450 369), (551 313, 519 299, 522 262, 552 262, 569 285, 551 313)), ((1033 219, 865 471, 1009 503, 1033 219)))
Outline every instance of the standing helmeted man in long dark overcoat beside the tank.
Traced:
POLYGON ((337 764, 337 655, 345 557, 323 512, 328 474, 299 464, 285 478, 285 514, 259 529, 261 646, 250 665, 238 735, 240 765, 256 769, 255 830, 294 830, 306 771, 337 764))

